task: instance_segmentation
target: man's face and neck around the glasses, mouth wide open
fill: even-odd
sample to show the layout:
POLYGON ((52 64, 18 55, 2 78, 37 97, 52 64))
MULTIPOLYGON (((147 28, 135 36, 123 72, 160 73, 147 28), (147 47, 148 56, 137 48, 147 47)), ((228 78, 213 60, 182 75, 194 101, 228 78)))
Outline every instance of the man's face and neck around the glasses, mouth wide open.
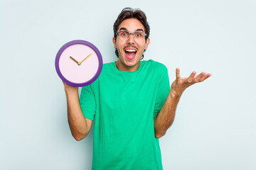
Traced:
MULTIPOLYGON (((141 31, 145 33, 143 24, 136 18, 129 18, 120 23, 117 32, 120 30, 127 30, 129 33, 141 31)), ((117 39, 113 38, 114 47, 117 48, 119 59, 117 60, 117 68, 122 71, 134 72, 139 68, 140 59, 149 45, 149 38, 137 42, 132 35, 127 40, 120 40, 119 35, 117 39)))

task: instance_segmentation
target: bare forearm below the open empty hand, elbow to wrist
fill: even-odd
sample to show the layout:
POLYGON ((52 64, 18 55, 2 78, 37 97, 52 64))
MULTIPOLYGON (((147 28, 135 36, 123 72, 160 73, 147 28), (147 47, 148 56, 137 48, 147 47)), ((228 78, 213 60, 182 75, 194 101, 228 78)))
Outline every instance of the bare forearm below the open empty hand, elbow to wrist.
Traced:
POLYGON ((178 101, 181 98, 181 94, 177 94, 171 89, 164 106, 161 108, 159 114, 154 118, 154 131, 156 138, 164 136, 166 130, 170 128, 171 124, 174 122, 175 112, 178 101))

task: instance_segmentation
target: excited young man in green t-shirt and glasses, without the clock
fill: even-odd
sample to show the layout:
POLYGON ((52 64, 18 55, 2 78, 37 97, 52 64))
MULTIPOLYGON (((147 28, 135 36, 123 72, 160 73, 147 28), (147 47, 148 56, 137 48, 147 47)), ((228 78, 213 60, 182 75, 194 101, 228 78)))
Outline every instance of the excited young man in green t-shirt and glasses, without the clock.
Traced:
POLYGON ((141 61, 149 45, 144 12, 124 8, 114 23, 117 62, 103 65, 100 77, 82 87, 65 86, 68 122, 75 140, 82 140, 95 120, 92 169, 163 169, 158 138, 174 121, 179 98, 192 84, 210 74, 202 72, 169 86, 164 64, 141 61))

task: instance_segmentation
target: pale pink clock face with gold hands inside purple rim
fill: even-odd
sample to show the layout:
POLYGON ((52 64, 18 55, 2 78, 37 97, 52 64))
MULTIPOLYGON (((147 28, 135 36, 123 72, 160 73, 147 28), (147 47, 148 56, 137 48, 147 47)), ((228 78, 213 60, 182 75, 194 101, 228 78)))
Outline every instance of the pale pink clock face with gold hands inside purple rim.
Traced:
POLYGON ((97 74, 99 59, 96 52, 87 45, 70 45, 60 55, 59 68, 65 79, 82 84, 97 74))

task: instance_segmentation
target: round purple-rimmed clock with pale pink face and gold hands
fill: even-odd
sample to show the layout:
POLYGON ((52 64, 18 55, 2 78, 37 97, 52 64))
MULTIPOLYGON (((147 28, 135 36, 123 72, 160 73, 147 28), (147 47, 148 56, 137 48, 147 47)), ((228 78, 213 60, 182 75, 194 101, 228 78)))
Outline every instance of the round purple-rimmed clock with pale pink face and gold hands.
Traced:
POLYGON ((55 58, 60 79, 70 86, 92 84, 102 71, 100 51, 85 40, 73 40, 60 48, 55 58))

